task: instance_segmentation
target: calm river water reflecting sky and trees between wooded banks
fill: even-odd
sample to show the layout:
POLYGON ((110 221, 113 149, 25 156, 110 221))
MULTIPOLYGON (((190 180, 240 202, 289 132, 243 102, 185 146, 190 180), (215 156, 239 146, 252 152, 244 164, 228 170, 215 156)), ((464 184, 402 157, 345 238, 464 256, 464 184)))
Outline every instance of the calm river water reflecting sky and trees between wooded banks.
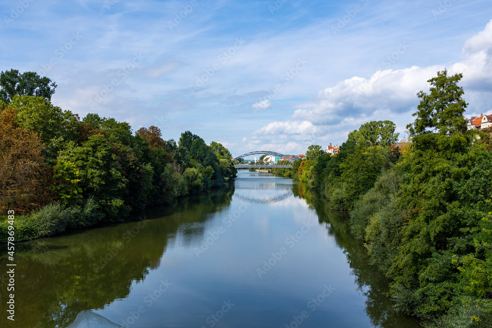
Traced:
POLYGON ((0 327, 419 327, 392 310, 347 214, 303 183, 240 171, 139 217, 17 244, 0 327))

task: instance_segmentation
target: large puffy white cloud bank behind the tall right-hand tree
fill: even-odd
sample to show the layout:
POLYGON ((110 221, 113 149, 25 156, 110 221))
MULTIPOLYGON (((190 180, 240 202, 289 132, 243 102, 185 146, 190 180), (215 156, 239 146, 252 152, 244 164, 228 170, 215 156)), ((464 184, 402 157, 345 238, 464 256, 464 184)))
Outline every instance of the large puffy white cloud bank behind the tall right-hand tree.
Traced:
MULTIPOLYGON (((413 121, 419 102, 417 92, 429 90, 437 71, 463 73, 460 85, 470 105, 468 113, 492 112, 492 20, 485 30, 466 40, 465 59, 452 65, 412 66, 375 72, 369 79, 354 76, 319 91, 316 100, 296 110, 292 120, 271 122, 252 133, 254 140, 267 142, 271 136, 283 140, 341 144, 348 133, 370 120, 390 119, 403 133, 413 121)), ((400 135, 402 136, 402 135, 400 135)), ((307 144, 305 145, 307 147, 307 144)), ((297 145, 295 147, 298 147, 297 145)), ((296 149, 296 148, 293 148, 296 149)))

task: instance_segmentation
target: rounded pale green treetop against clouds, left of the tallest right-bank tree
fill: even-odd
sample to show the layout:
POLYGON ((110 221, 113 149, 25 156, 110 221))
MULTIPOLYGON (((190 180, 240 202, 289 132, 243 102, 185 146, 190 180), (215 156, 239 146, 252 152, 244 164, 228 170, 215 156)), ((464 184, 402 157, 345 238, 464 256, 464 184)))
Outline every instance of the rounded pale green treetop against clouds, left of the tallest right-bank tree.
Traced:
POLYGON ((390 120, 370 121, 361 125, 359 130, 349 133, 348 139, 353 139, 357 145, 390 146, 398 140, 399 133, 395 133, 396 124, 390 120))

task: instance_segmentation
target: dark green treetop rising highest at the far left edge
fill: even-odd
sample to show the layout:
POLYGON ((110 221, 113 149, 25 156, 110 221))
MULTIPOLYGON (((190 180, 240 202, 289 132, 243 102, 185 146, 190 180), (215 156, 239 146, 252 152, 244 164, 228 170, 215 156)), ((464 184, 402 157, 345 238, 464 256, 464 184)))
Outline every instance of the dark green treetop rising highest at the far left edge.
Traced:
POLYGON ((0 100, 9 104, 15 95, 40 96, 48 100, 55 93, 57 85, 47 77, 35 72, 19 74, 17 69, 0 73, 0 100))

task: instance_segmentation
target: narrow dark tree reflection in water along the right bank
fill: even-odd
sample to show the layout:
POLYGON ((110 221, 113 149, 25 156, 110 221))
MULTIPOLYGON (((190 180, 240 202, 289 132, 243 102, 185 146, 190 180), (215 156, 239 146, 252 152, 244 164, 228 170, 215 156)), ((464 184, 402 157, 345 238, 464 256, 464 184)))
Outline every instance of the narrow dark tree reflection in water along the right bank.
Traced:
POLYGON ((292 191, 316 211, 320 224, 329 223, 328 234, 335 237, 337 245, 343 248, 358 289, 367 297, 366 313, 371 324, 383 328, 419 327, 417 320, 400 315, 393 309, 393 302, 387 294, 389 280, 376 266, 369 264, 365 247, 352 237, 349 214, 331 210, 324 197, 318 196, 305 183, 294 184, 292 191))

